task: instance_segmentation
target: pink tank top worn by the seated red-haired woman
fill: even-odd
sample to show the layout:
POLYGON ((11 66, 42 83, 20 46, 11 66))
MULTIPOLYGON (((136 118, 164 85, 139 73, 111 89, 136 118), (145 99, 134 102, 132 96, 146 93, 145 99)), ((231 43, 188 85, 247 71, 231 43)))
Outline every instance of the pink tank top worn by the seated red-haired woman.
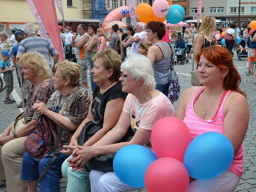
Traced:
MULTIPOLYGON (((185 111, 183 122, 188 126, 192 140, 205 132, 219 132, 223 134, 224 129, 224 116, 223 116, 223 105, 230 91, 225 91, 220 99, 218 110, 211 120, 204 120, 198 117, 194 112, 194 103, 196 102, 199 95, 204 91, 204 86, 200 87, 193 99, 189 102, 188 107, 185 111)), ((229 170, 235 173, 238 177, 243 174, 243 163, 244 163, 244 147, 243 144, 236 153, 236 156, 229 167, 229 170)))

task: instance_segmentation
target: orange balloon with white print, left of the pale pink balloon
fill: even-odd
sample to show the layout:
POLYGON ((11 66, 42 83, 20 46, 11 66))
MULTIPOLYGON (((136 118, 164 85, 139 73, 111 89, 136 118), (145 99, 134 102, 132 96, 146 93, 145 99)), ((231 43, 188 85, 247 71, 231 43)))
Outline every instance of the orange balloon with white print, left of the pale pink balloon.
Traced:
POLYGON ((139 4, 135 9, 135 15, 143 23, 148 23, 149 21, 153 20, 153 9, 147 3, 139 4))

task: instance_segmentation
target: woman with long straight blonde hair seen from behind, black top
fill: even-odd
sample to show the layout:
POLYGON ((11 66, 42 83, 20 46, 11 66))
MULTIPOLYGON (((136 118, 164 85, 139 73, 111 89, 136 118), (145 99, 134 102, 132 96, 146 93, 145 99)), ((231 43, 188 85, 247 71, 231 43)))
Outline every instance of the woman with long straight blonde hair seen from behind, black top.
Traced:
POLYGON ((212 16, 204 16, 196 37, 195 55, 200 49, 209 47, 214 44, 212 41, 213 28, 215 26, 215 18, 212 16))

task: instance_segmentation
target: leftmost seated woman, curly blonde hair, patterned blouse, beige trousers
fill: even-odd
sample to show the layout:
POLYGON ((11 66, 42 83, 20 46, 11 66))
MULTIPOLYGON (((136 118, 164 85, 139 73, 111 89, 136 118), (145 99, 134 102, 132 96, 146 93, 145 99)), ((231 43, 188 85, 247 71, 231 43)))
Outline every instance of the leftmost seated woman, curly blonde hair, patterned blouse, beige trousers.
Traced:
POLYGON ((23 67, 21 72, 24 79, 30 81, 32 86, 28 95, 26 113, 19 118, 22 119, 24 116, 23 120, 26 122, 23 123, 21 120, 20 123, 16 117, 17 123, 10 124, 0 136, 0 146, 2 146, 0 158, 3 160, 0 161, 0 180, 7 180, 8 191, 25 192, 28 189, 27 182, 20 180, 20 174, 23 154, 26 152, 24 141, 36 129, 37 114, 32 106, 37 100, 47 103, 54 92, 54 82, 50 80, 51 69, 42 54, 23 53, 19 63, 23 67))

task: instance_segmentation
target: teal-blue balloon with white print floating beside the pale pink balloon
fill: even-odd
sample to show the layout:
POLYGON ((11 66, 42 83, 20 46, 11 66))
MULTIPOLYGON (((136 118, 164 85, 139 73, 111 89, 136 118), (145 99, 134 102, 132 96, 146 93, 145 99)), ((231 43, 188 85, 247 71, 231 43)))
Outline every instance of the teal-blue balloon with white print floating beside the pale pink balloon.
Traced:
POLYGON ((169 12, 166 15, 166 20, 168 23, 176 24, 183 20, 185 16, 185 10, 182 6, 175 4, 170 6, 169 12))

